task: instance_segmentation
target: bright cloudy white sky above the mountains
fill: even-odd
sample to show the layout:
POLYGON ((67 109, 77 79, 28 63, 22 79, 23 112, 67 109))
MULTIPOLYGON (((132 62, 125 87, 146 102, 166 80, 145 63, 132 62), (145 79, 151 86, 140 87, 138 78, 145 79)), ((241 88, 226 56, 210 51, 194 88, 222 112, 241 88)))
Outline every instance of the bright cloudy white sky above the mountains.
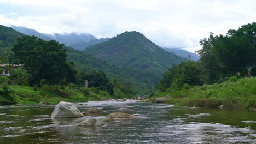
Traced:
POLYGON ((137 31, 160 47, 194 52, 209 32, 226 34, 255 22, 255 5, 255 0, 0 0, 0 25, 96 38, 137 31))

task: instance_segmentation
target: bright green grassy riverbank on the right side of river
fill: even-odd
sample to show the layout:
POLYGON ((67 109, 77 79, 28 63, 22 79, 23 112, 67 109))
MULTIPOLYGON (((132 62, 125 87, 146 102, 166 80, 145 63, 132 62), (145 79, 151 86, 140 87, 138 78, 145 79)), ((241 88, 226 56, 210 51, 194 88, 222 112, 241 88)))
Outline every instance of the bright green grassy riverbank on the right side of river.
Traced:
POLYGON ((256 109, 256 78, 230 79, 214 85, 183 87, 179 91, 154 94, 157 97, 172 95, 168 103, 183 106, 218 107, 225 109, 256 109))

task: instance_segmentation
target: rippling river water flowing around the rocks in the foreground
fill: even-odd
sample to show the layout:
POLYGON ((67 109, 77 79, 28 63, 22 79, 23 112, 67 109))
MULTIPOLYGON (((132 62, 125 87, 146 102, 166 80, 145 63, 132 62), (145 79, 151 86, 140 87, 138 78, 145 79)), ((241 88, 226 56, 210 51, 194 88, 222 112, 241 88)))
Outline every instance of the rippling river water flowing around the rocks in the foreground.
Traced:
POLYGON ((122 109, 137 118, 96 128, 74 125, 83 118, 51 119, 54 105, 0 107, 0 143, 256 143, 256 113, 136 101, 89 101, 77 105, 104 111, 122 109))

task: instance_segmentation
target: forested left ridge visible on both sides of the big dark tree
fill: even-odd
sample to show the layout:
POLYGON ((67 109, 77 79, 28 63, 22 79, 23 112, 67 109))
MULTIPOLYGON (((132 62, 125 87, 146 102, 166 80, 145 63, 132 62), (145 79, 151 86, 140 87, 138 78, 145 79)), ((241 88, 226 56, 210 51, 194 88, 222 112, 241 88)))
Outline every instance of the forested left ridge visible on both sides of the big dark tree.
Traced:
MULTIPOLYGON (((0 25, 0 55, 5 50, 11 52, 11 47, 16 43, 16 38, 21 37, 22 33, 15 31, 10 27, 0 25)), ((159 81, 159 77, 149 71, 136 70, 131 67, 120 67, 115 64, 109 64, 106 61, 96 58, 89 53, 84 53, 65 46, 67 53, 67 61, 73 61, 75 68, 89 71, 102 70, 105 71, 110 79, 119 79, 122 83, 131 83, 135 90, 139 93, 152 92, 155 85, 159 81)))

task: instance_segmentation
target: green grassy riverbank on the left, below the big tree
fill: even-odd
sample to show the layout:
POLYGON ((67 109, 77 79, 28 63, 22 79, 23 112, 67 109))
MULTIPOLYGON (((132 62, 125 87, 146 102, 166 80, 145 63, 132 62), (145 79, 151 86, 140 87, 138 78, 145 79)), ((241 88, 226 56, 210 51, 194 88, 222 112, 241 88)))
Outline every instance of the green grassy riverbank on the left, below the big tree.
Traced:
MULTIPOLYGON (((4 85, 0 85, 3 89, 4 85)), ((5 85, 7 86, 7 85, 5 85)), ((3 90, 2 90, 3 91, 3 90)), ((69 87, 61 89, 61 86, 29 87, 20 85, 8 86, 10 97, 0 95, 0 105, 10 104, 39 104, 48 101, 50 104, 57 104, 59 101, 83 102, 88 100, 103 100, 111 95, 106 91, 96 88, 77 88, 71 90, 69 87)))

